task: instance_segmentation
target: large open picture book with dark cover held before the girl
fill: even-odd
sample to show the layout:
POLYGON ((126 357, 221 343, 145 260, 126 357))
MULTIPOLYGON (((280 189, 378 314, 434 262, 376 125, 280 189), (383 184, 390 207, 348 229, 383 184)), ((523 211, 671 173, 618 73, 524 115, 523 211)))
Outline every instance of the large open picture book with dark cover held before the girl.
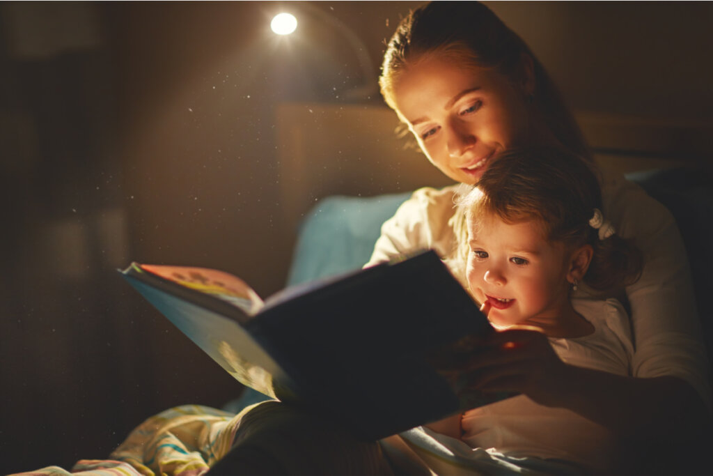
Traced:
POLYGON ((240 383, 370 440, 509 396, 460 397, 431 365, 492 330, 432 250, 265 302, 219 270, 132 263, 123 275, 240 383))

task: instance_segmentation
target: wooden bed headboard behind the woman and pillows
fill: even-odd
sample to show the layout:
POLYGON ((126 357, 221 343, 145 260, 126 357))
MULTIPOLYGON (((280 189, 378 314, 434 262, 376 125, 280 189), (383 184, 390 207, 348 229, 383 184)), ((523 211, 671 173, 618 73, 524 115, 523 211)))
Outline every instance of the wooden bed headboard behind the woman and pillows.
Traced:
MULTIPOLYGON (((375 196, 446 186, 450 179, 405 148, 386 106, 282 103, 277 108, 279 194, 286 229, 330 195, 375 196)), ((622 173, 713 161, 713 123, 673 123, 601 113, 575 115, 602 167, 622 173)))

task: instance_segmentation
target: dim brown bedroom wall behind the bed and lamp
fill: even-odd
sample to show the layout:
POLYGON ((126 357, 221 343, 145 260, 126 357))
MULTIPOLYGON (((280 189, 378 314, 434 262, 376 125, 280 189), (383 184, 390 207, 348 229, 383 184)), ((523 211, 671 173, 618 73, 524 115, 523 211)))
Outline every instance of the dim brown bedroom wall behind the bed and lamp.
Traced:
MULTIPOLYGON (((116 268, 205 265, 282 288, 275 105, 356 101, 418 4, 0 4, 3 474, 107 457, 155 412, 240 393, 116 268), (302 11, 302 36, 268 31, 282 9, 302 11)), ((491 4, 576 110, 707 124, 711 5, 491 4)))

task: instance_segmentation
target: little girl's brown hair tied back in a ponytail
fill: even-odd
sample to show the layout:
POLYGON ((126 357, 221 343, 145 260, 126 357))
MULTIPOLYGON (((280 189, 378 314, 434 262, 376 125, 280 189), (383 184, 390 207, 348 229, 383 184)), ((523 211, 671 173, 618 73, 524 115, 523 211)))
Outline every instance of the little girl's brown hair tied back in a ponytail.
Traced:
MULTIPOLYGON (((595 168, 560 148, 527 148, 501 153, 476 186, 463 188, 456 204, 458 253, 468 252, 466 218, 495 217, 505 223, 536 221, 547 240, 569 249, 590 244, 592 261, 583 281, 595 290, 634 283, 642 270, 642 253, 616 233, 600 238, 590 225, 602 193, 595 168)), ((604 217, 606 219, 606 216, 604 217)))

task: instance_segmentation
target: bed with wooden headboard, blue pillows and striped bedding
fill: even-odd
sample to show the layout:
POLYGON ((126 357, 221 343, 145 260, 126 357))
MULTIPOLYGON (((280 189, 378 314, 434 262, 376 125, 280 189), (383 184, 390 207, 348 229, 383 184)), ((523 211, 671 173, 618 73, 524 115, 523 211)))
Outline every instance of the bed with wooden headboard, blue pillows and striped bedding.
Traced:
MULTIPOLYGON (((396 116, 384 106, 285 103, 277 118, 283 239, 294 248, 289 285, 359 268, 381 223, 411 191, 450 183, 404 147, 396 116)), ((587 113, 578 121, 602 167, 626 173, 674 213, 713 348, 713 306, 705 299, 713 289, 713 128, 587 113)), ((73 474, 202 474, 230 449, 236 413, 262 398, 247 391, 222 409, 165 410, 136 427, 109 460, 81 460, 73 474)))

